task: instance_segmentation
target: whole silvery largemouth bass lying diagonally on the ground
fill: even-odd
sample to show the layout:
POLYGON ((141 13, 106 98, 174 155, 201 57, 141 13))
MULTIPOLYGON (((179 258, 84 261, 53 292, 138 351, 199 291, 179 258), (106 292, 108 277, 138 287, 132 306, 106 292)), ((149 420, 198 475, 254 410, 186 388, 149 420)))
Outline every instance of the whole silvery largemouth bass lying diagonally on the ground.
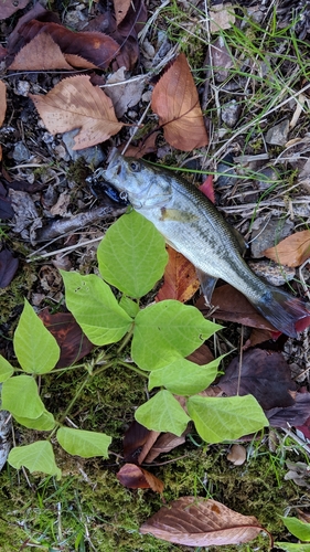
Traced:
POLYGON ((310 307, 250 270, 236 232, 193 184, 172 171, 118 152, 103 176, 196 267, 207 301, 216 279, 222 278, 282 333, 297 337, 297 331, 309 326, 310 307))

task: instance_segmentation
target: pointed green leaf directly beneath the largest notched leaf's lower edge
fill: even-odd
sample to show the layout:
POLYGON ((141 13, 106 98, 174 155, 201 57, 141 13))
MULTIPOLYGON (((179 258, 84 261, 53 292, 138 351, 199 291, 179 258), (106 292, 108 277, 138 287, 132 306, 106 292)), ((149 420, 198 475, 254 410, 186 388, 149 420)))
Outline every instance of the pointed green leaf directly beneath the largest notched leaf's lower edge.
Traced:
POLYGON ((178 359, 150 373, 149 389, 164 385, 168 391, 177 395, 194 395, 209 388, 215 380, 222 358, 202 367, 186 359, 178 359))

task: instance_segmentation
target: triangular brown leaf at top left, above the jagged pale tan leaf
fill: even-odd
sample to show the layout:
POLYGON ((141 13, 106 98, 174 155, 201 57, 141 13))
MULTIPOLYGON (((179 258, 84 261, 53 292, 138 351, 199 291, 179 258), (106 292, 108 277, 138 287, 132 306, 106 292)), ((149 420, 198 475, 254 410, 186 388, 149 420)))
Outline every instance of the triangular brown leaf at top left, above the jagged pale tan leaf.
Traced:
POLYGON ((53 41, 52 36, 43 32, 20 50, 9 68, 14 71, 51 71, 72 70, 72 65, 66 62, 58 44, 53 41))

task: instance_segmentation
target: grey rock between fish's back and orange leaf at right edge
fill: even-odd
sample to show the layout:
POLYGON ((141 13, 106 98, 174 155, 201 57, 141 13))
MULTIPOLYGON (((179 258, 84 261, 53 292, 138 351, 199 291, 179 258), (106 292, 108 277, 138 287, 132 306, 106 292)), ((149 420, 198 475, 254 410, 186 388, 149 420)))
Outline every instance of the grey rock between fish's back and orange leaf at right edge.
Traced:
POLYGON ((272 247, 276 243, 289 236, 293 229, 293 223, 289 220, 282 223, 278 219, 270 219, 264 229, 265 224, 266 222, 261 221, 261 225, 252 232, 250 251, 254 258, 264 257, 263 251, 272 247))

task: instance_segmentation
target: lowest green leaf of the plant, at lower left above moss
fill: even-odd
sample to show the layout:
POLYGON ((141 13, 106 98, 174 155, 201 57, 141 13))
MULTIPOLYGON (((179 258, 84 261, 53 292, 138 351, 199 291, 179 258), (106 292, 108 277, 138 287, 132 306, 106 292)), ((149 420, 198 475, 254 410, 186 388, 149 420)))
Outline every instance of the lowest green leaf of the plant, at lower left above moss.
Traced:
POLYGON ((62 476, 55 464, 53 447, 49 440, 36 440, 31 445, 12 448, 8 461, 15 469, 24 466, 31 474, 42 471, 50 476, 56 476, 57 479, 62 476))

